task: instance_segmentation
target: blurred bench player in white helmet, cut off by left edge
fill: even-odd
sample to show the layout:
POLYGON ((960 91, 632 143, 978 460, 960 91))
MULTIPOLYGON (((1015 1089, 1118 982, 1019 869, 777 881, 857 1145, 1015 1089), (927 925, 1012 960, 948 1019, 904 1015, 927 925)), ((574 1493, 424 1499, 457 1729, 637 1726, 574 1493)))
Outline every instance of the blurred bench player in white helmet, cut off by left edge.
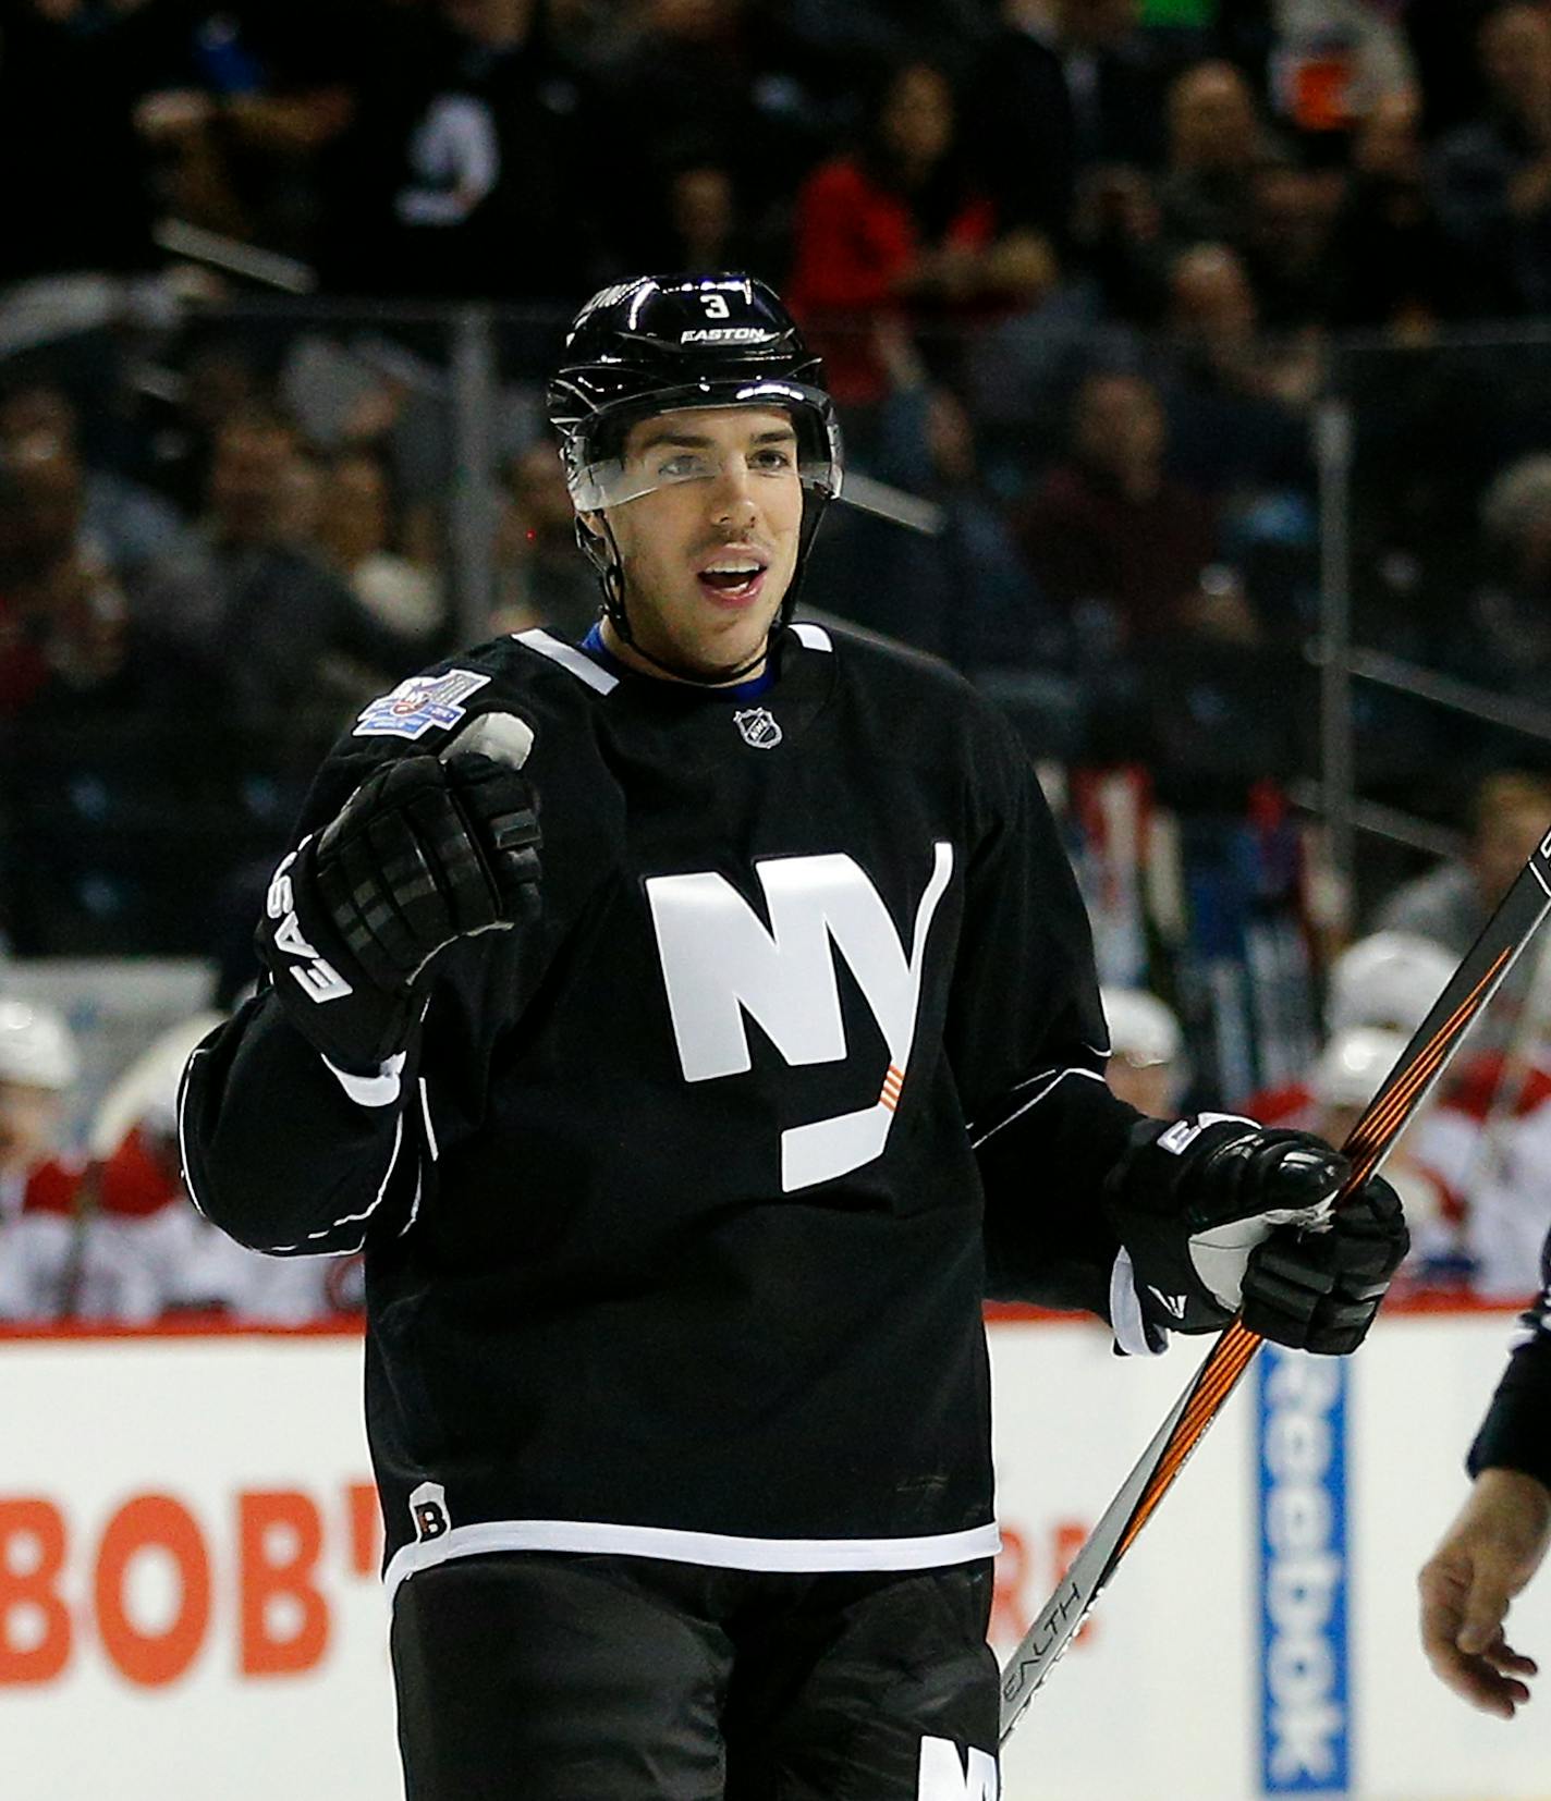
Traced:
POLYGON ((79 1163, 59 1127, 77 1073, 59 1014, 0 1000, 0 1320, 56 1318, 67 1299, 79 1163))

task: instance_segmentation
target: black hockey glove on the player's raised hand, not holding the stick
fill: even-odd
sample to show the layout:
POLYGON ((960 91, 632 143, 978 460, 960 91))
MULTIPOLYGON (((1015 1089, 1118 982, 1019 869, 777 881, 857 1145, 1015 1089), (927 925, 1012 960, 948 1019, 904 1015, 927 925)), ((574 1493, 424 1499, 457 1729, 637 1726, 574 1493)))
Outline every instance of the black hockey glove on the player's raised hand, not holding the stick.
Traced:
POLYGON ((258 951, 290 1021, 330 1063, 375 1073, 405 1046, 441 951, 537 915, 539 841, 510 764, 465 751, 375 771, 270 882, 258 951))

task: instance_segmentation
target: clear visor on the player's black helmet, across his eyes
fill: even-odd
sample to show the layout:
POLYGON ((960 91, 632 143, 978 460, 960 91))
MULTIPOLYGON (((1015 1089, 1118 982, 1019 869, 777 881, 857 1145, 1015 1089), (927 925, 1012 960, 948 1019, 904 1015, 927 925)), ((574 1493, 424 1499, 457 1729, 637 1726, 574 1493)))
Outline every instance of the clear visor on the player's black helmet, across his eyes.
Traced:
MULTIPOLYGON (((625 506, 643 493, 670 488, 685 481, 719 481, 730 463, 748 470, 753 483, 789 481, 796 474, 805 488, 834 497, 839 493, 839 445, 832 430, 816 430, 818 420, 798 416, 809 412, 805 389, 789 382, 751 382, 733 393, 706 393, 690 389, 685 394, 654 396, 656 412, 692 412, 713 407, 785 407, 794 411, 796 438, 773 438, 769 443, 749 443, 737 452, 726 452, 710 443, 676 443, 667 439, 636 454, 629 463, 620 456, 582 463, 569 475, 571 499, 582 513, 602 511, 607 506, 625 506), (818 439, 823 439, 821 447, 818 439)), ((649 414, 650 416, 650 414, 649 414)), ((686 438, 697 436, 686 430, 686 438)))

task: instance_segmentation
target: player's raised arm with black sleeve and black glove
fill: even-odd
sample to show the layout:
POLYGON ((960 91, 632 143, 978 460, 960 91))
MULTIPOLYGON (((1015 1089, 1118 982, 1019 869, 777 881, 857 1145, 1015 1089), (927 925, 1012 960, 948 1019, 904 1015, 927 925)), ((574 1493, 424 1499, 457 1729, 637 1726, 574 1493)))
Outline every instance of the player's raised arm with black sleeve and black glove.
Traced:
POLYGON ((530 744, 521 720, 481 715, 440 755, 346 760, 362 780, 333 814, 340 774, 321 778, 322 823, 265 897, 268 980, 184 1084, 191 1192, 232 1237, 357 1250, 413 1210, 423 1131, 407 1102, 432 985, 454 946, 537 913, 537 807, 515 767, 530 744))

